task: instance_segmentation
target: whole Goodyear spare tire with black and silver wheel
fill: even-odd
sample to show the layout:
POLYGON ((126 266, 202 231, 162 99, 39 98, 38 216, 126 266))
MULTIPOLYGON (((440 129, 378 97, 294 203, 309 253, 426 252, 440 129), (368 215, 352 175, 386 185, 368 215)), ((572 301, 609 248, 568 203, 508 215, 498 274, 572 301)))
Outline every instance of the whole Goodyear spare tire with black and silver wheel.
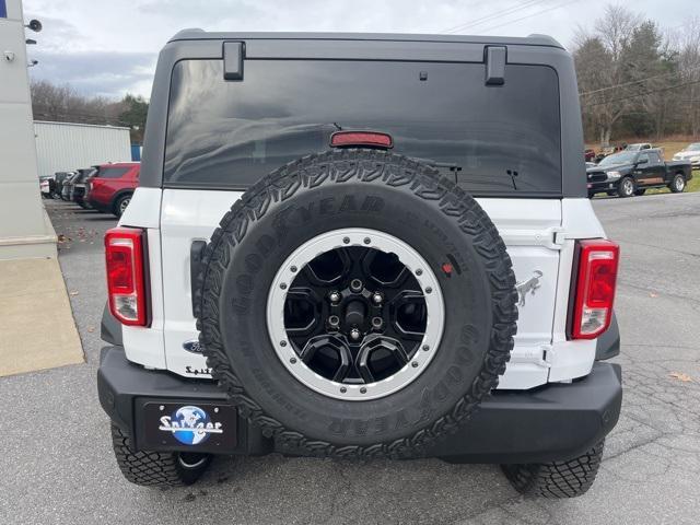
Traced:
POLYGON ((377 150, 292 162, 221 220, 195 299, 212 375, 291 454, 411 457, 513 348, 517 293, 477 201, 377 150))

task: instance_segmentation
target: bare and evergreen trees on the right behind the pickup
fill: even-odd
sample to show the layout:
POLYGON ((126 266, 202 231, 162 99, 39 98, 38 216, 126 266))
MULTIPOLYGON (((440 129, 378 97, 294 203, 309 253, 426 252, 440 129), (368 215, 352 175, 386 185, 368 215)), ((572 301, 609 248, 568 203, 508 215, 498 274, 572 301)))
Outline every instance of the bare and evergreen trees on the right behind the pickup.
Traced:
POLYGON ((700 136, 700 18, 663 32, 608 5, 572 47, 586 141, 700 136))

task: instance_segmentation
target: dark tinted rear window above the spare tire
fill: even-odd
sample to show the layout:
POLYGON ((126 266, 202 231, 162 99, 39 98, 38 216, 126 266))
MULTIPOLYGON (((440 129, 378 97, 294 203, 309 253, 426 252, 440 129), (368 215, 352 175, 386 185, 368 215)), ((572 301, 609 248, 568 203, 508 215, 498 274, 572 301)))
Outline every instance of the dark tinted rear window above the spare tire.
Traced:
POLYGON ((485 85, 482 63, 221 60, 174 70, 164 185, 244 189, 277 167, 328 150, 334 131, 376 130, 475 195, 561 194, 557 73, 509 65, 485 85))

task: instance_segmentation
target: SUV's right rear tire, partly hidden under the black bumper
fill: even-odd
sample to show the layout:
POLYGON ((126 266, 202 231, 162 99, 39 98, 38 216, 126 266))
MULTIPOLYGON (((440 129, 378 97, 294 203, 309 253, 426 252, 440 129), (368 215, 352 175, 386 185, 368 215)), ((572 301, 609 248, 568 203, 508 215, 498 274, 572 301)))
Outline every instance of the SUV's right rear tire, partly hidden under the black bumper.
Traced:
POLYGON ((541 498, 575 498, 593 485, 605 441, 584 454, 564 462, 501 465, 511 485, 526 495, 541 498))

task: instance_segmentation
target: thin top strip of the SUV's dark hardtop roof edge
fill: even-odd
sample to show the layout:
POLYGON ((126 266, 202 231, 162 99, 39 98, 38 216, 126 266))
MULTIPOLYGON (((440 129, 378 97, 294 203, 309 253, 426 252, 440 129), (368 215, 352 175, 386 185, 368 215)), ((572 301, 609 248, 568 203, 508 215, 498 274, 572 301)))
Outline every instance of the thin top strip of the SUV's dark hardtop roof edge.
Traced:
POLYGON ((500 44, 518 46, 544 46, 563 49, 555 38, 548 35, 529 36, 475 36, 475 35, 429 35, 399 33, 273 33, 273 32, 207 32, 199 28, 183 30, 170 42, 177 40, 385 40, 385 42, 443 42, 464 44, 500 44))

